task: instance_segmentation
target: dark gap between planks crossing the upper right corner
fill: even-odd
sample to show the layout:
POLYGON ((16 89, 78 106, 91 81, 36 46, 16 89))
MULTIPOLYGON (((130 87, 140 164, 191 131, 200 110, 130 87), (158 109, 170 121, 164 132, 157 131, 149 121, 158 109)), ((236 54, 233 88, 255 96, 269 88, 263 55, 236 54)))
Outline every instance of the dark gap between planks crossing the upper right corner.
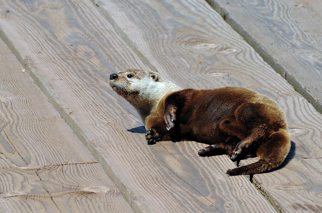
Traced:
POLYGON ((280 74, 282 78, 284 78, 287 83, 289 83, 296 92, 301 94, 318 112, 322 114, 322 105, 316 101, 308 92, 306 92, 300 83, 293 78, 291 75, 288 75, 288 72, 285 68, 279 65, 273 58, 270 56, 259 44, 255 42, 253 37, 247 33, 235 20, 230 18, 229 12, 227 12, 224 8, 222 8, 219 3, 214 0, 205 0, 209 5, 217 12, 222 19, 231 26, 231 28, 238 33, 249 46, 251 46, 256 53, 258 53, 263 60, 271 66, 275 72, 280 74))

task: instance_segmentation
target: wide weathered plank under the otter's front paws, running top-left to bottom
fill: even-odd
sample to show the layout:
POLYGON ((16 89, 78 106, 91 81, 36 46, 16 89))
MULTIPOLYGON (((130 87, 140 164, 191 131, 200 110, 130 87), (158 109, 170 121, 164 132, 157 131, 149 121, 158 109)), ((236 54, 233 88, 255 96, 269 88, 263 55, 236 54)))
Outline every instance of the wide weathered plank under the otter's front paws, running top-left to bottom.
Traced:
POLYGON ((274 211, 245 177, 225 175, 234 166, 226 156, 199 158, 196 150, 203 145, 195 143, 148 146, 143 134, 134 134, 142 133, 142 121, 105 80, 118 69, 145 68, 148 62, 94 4, 60 0, 2 5, 12 11, 0 15, 2 37, 25 59, 95 157, 106 162, 135 211, 274 211))

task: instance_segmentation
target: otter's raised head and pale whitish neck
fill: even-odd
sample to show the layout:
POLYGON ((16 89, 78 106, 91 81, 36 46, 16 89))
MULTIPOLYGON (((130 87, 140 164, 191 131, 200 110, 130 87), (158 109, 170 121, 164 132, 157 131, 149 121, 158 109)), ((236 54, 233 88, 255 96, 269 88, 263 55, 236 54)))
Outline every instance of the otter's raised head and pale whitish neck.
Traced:
POLYGON ((109 85, 138 110, 143 121, 166 94, 180 90, 158 72, 140 69, 110 74, 109 85))

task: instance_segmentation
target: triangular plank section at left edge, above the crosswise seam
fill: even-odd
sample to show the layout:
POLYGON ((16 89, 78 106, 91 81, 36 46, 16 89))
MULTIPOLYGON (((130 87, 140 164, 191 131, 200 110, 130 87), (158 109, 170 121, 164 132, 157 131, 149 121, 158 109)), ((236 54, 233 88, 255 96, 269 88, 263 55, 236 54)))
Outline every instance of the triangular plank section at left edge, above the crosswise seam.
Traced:
POLYGON ((0 167, 95 161, 2 40, 0 67, 0 167))

